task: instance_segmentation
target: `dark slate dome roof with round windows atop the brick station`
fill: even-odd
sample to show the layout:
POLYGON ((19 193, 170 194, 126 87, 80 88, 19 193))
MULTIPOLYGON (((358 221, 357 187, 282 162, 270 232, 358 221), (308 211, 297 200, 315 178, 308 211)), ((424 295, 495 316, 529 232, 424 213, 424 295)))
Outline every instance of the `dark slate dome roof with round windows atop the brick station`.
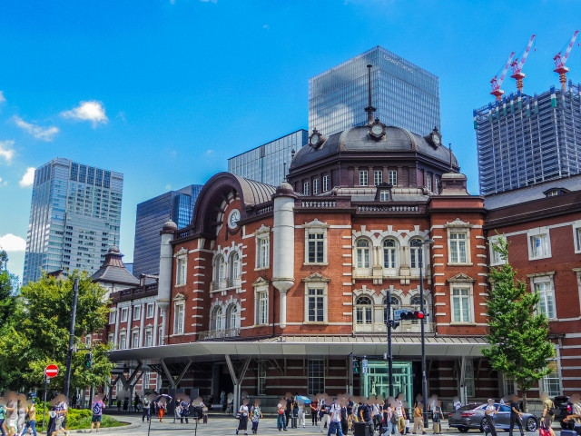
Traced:
MULTIPOLYGON (((447 147, 434 147, 428 141, 412 134, 406 129, 395 126, 386 128, 386 135, 380 141, 369 138, 369 126, 351 127, 330 137, 318 149, 302 147, 291 163, 291 169, 318 161, 332 154, 340 152, 417 152, 438 161, 449 163, 450 151, 447 147)), ((458 160, 452 154, 452 164, 458 167, 458 160)))

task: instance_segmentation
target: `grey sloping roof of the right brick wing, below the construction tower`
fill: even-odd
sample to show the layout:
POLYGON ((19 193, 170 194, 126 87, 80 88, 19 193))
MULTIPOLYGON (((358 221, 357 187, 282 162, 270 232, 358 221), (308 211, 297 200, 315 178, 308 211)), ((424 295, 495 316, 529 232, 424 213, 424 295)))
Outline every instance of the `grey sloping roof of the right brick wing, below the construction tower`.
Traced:
POLYGON ((494 210, 512 206, 513 204, 532 202, 533 200, 546 198, 545 193, 553 188, 564 188, 571 192, 581 191, 581 175, 537 183, 525 188, 507 191, 506 193, 488 195, 485 197, 484 207, 488 210, 494 210))

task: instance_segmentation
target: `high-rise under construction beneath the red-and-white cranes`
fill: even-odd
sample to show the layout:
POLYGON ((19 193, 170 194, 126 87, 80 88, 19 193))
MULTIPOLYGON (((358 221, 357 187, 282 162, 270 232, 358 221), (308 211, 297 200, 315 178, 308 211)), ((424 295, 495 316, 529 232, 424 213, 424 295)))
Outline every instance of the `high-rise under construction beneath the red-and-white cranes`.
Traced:
POLYGON ((480 193, 581 173, 580 87, 510 94, 474 110, 480 193))

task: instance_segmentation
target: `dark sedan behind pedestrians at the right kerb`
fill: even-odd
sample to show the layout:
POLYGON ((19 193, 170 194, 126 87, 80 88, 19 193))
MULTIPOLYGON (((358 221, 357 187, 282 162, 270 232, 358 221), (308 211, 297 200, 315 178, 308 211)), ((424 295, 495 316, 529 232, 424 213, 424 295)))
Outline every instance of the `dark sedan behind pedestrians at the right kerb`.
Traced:
MULTIPOLYGON (((500 410, 497 412, 497 419, 495 421, 495 428, 499 430, 508 430, 510 427, 510 407, 507 404, 499 404, 495 402, 494 407, 500 410)), ((450 428, 457 428, 458 431, 466 433, 470 429, 478 429, 484 431, 486 425, 485 409, 487 404, 472 403, 462 406, 458 411, 453 411, 448 415, 448 425, 450 428)), ((525 431, 537 431, 538 420, 532 413, 523 413, 523 428, 525 431)))

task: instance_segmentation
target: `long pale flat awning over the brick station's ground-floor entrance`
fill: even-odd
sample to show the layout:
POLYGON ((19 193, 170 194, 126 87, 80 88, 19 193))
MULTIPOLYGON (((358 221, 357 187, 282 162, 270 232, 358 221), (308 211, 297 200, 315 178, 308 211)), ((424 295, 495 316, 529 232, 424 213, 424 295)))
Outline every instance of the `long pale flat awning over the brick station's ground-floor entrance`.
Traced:
MULTIPOLYGON (((394 357, 420 356, 419 336, 394 336, 394 357)), ((482 337, 430 337, 426 338, 426 355, 454 359, 480 357, 482 347, 487 347, 482 337)), ((208 362, 232 357, 319 357, 319 356, 383 356, 388 352, 386 337, 379 336, 279 336, 258 341, 198 341, 159 347, 117 350, 110 353, 113 362, 124 362, 134 367, 143 364, 179 362, 208 362)))

